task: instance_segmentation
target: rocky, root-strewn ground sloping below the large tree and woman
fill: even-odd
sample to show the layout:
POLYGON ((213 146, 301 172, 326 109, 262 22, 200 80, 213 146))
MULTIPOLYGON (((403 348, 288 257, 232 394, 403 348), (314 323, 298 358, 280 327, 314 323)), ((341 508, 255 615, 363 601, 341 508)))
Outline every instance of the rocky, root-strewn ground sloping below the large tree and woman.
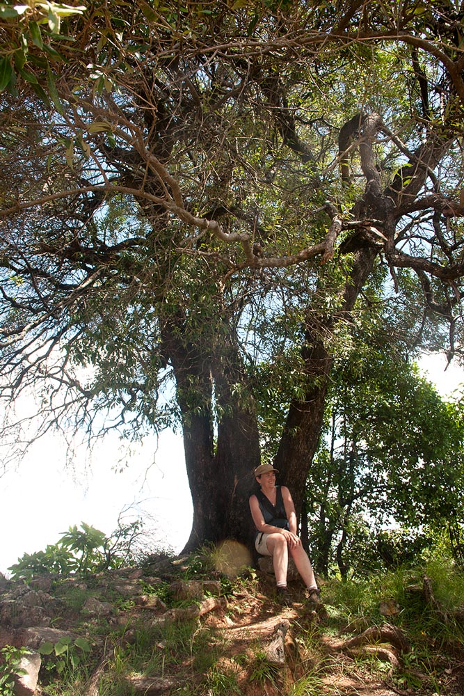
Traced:
MULTIPOLYGON (((348 625, 333 620, 330 606, 309 603, 298 583, 291 585, 289 606, 282 606, 265 572, 225 586, 214 574, 211 579, 188 578, 184 572, 182 578, 182 571, 189 569, 184 562, 163 558, 143 569, 106 571, 86 579, 44 576, 24 583, 1 578, 0 648, 29 650, 22 663, 26 674, 17 679, 15 694, 464 693, 459 640, 448 649, 440 646, 433 670, 420 667, 417 660, 413 663, 414 646, 394 625, 401 610, 394 600, 383 603, 380 625, 363 619, 348 625), (187 624, 193 633, 190 649, 182 652, 173 644, 175 639, 163 637, 163 630, 187 624), (152 638, 150 649, 162 658, 162 669, 119 670, 111 686, 115 656, 130 656, 141 631, 159 636, 152 638), (79 640, 88 644, 81 654, 81 663, 88 666, 86 678, 74 691, 63 685, 60 690, 44 646, 67 644, 69 657, 79 640)), ((424 588, 415 592, 424 594, 424 588)), ((433 607, 433 596, 423 600, 440 610, 433 607)))

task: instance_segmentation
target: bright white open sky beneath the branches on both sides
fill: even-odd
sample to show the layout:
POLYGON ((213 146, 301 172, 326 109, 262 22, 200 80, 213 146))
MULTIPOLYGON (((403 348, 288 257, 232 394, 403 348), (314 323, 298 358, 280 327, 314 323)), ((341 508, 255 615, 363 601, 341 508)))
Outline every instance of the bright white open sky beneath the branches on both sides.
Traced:
MULTIPOLYGON (((454 364, 445 371, 443 356, 424 356, 424 376, 449 395, 464 382, 454 364)), ((192 504, 185 471, 182 437, 171 432, 159 443, 150 438, 131 452, 130 465, 115 472, 120 454, 116 436, 95 449, 91 468, 77 457, 74 470, 65 468, 63 443, 47 436, 33 445, 17 470, 0 478, 0 572, 23 553, 56 544, 61 532, 81 521, 111 535, 120 513, 130 521, 144 519, 147 546, 180 551, 191 529, 192 504)))

